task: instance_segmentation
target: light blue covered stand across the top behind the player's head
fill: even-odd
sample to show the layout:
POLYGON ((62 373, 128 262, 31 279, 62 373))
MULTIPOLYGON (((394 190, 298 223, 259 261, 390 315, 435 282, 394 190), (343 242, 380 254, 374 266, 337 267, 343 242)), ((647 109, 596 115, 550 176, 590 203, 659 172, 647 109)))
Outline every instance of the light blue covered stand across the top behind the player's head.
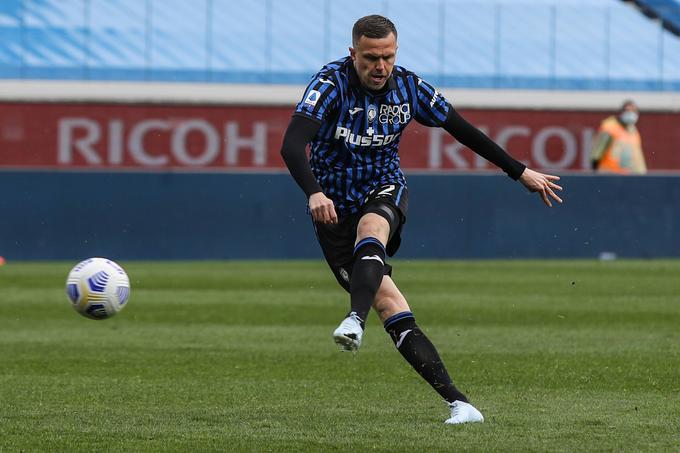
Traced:
POLYGON ((677 2, 636 3, 662 24, 617 0, 4 0, 0 78, 303 84, 376 12, 442 87, 677 90, 677 2))

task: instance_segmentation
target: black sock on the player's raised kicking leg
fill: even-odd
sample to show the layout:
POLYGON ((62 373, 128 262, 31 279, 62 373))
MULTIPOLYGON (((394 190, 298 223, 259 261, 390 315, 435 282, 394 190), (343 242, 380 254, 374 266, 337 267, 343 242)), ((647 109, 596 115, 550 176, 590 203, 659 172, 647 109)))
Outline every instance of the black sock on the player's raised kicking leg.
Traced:
POLYGON ((354 265, 349 283, 351 311, 362 321, 362 327, 371 311, 375 293, 378 292, 385 272, 385 247, 373 237, 359 241, 354 247, 354 265))

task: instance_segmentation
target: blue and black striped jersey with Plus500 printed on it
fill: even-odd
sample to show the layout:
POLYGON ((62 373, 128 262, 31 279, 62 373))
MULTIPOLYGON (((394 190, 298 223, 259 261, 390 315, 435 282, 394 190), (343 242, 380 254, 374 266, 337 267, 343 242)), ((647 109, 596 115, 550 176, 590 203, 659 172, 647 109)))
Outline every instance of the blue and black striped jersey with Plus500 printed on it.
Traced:
POLYGON ((394 66, 386 89, 366 90, 346 57, 312 78, 294 114, 321 123, 310 165, 343 215, 357 212, 380 185, 406 185, 398 154, 402 132, 412 119, 441 126, 449 108, 439 91, 401 66, 394 66))

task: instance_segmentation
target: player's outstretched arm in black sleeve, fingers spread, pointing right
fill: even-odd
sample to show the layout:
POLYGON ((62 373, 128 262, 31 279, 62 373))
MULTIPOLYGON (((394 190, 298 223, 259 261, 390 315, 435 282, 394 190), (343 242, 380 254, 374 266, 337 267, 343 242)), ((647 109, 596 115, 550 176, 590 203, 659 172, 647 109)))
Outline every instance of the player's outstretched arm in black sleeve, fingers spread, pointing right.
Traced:
POLYGON ((562 190, 555 183, 559 181, 559 176, 539 173, 514 159, 486 134, 468 123, 451 105, 442 127, 463 145, 501 168, 512 179, 519 180, 531 192, 538 192, 548 207, 552 207, 551 199, 562 203, 562 199, 555 193, 556 190, 562 190))

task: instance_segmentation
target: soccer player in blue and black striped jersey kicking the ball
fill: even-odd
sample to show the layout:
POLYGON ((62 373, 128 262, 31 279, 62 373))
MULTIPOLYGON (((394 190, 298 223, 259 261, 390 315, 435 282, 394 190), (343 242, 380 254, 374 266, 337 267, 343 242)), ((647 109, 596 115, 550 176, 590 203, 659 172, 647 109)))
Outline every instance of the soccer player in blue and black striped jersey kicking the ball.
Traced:
POLYGON ((383 16, 359 19, 350 55, 328 63, 307 87, 284 135, 281 154, 308 197, 316 236, 350 311, 333 332, 342 350, 361 345, 373 307, 397 350, 451 408, 449 424, 484 417, 451 381, 439 354, 416 324, 386 263, 401 242, 408 190, 399 166, 404 128, 415 119, 442 127, 511 178, 562 202, 559 177, 526 168, 470 125, 439 91, 395 65, 397 30, 383 16), (311 157, 306 146, 311 144, 311 157))

